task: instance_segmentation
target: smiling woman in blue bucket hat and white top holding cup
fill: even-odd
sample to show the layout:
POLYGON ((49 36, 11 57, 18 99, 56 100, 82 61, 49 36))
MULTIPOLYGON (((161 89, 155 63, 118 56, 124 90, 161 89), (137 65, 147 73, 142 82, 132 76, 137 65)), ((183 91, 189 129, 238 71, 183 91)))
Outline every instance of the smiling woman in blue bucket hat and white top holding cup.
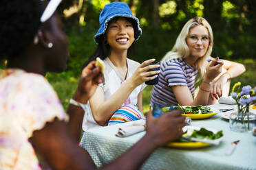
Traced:
POLYGON ((158 64, 149 65, 155 59, 139 64, 127 58, 129 48, 140 38, 142 30, 126 3, 105 5, 99 21, 100 28, 94 36, 98 47, 87 63, 96 58, 103 60, 105 83, 100 84, 89 99, 90 109, 83 119, 84 131, 98 125, 142 119, 144 82, 153 80, 159 73, 148 71, 159 67, 158 64))

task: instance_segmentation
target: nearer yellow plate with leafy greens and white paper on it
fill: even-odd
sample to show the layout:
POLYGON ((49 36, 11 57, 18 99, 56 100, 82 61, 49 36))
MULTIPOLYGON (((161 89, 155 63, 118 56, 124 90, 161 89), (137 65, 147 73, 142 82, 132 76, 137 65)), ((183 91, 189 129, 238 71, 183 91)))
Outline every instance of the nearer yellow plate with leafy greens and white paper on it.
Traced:
POLYGON ((216 130, 213 128, 187 125, 183 127, 182 130, 184 132, 182 138, 179 138, 177 141, 168 143, 167 146, 187 149, 200 148, 210 145, 219 145, 223 138, 222 130, 216 130))

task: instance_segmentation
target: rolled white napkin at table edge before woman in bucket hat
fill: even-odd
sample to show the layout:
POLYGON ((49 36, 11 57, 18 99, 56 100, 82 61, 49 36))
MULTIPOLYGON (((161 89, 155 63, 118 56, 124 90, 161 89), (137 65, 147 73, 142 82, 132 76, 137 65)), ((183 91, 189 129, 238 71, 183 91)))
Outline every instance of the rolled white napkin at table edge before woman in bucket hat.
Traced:
POLYGON ((118 137, 126 137, 131 136, 133 134, 137 134, 138 132, 142 132, 145 130, 145 121, 142 123, 133 123, 131 125, 119 127, 116 136, 118 137))

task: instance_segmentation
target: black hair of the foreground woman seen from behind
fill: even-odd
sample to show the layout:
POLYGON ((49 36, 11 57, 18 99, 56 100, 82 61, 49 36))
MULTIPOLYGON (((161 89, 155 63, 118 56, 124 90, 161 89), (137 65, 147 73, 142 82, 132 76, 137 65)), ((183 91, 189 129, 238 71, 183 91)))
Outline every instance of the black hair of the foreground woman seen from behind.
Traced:
POLYGON ((1 0, 0 60, 19 56, 32 42, 41 24, 40 0, 1 0))

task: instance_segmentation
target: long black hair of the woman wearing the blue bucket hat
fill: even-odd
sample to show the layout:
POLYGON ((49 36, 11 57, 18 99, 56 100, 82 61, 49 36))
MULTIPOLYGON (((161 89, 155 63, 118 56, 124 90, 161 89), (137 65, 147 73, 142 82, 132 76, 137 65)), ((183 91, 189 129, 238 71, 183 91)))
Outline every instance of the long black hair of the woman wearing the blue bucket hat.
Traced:
MULTIPOLYGON (((120 16, 114 17, 114 19, 111 19, 111 21, 109 21, 109 23, 116 22, 116 21, 118 21, 119 18, 120 18, 120 16)), ((136 25, 135 24, 136 21, 134 21, 134 19, 130 19, 130 18, 125 18, 125 19, 127 19, 127 21, 129 21, 133 25, 133 27, 134 27, 134 25, 136 25)), ((133 48, 133 46, 134 46, 134 42, 132 43, 131 47, 129 47, 128 54, 131 51, 131 49, 133 48)), ((83 68, 85 66, 87 66, 89 64, 89 62, 96 60, 96 58, 105 60, 105 58, 107 58, 110 54, 110 49, 111 49, 110 46, 107 44, 106 34, 100 35, 98 37, 98 46, 97 46, 96 50, 94 51, 92 56, 89 58, 89 60, 87 60, 85 62, 83 68)))

